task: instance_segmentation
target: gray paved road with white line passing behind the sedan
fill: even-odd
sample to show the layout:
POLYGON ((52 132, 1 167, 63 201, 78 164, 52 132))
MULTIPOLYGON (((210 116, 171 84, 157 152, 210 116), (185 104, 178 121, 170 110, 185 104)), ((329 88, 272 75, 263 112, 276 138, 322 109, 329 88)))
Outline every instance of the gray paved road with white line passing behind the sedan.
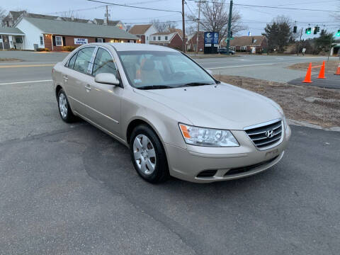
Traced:
MULTIPOLYGON (((1 57, 14 57, 23 62, 1 63, 0 83, 15 81, 29 81, 50 79, 52 65, 64 59, 67 53, 37 53, 37 52, 0 52, 1 57), (1 68, 12 65, 33 65, 34 67, 1 68), (42 66, 36 67, 35 65, 42 66)), ((331 57, 336 60, 337 57, 331 57)), ((214 74, 237 75, 266 79, 271 81, 288 82, 305 76, 300 70, 286 69, 290 64, 297 62, 312 62, 327 60, 327 57, 296 57, 296 56, 272 56, 272 55, 241 55, 240 57, 222 57, 210 59, 198 59, 203 67, 212 70, 214 74)))

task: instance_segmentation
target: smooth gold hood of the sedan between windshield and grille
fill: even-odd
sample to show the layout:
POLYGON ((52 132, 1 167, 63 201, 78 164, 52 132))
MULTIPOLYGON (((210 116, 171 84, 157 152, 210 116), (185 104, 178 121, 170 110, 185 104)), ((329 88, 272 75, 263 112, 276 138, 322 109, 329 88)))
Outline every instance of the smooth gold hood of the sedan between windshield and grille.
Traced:
POLYGON ((230 84, 135 91, 181 113, 199 127, 243 130, 282 118, 280 106, 271 99, 230 84))

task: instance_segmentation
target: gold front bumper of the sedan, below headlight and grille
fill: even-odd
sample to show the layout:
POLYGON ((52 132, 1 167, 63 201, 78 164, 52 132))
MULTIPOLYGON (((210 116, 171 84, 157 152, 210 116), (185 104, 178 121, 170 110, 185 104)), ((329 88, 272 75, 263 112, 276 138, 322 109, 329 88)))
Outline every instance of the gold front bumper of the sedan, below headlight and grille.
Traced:
POLYGON ((165 144, 170 175, 185 181, 210 183, 257 174, 282 159, 291 130, 288 126, 283 132, 282 142, 276 147, 266 150, 257 149, 246 135, 246 132, 232 130, 232 133, 237 138, 239 147, 187 145, 187 149, 182 149, 174 145, 165 144), (244 166, 249 167, 243 168, 244 166), (198 176, 198 174, 207 170, 216 170, 216 172, 213 176, 198 176))

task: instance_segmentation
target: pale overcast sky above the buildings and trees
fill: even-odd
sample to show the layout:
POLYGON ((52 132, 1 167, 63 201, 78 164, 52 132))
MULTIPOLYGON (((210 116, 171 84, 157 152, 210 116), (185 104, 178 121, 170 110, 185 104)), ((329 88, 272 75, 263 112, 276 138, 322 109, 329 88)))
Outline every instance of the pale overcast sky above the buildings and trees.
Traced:
MULTIPOLYGON (((130 4, 147 8, 162 8, 171 11, 181 11, 181 0, 102 0, 115 4, 130 4)), ((197 0, 186 0, 185 12, 196 13, 197 0)), ((208 0, 213 1, 213 0, 208 0)), ((227 0, 229 2, 229 0, 227 0)), ((242 23, 246 30, 237 35, 261 35, 266 23, 270 23, 278 15, 288 16, 293 22, 296 21, 297 29, 303 28, 302 38, 312 38, 313 35, 305 35, 305 28, 319 25, 329 31, 336 32, 340 29, 340 21, 335 21, 331 12, 320 10, 338 11, 340 13, 340 0, 234 0, 234 4, 250 4, 257 6, 279 6, 288 8, 310 8, 319 11, 297 11, 275 8, 254 8, 249 6, 235 6, 242 15, 242 23)), ((0 7, 6 11, 18 11, 26 9, 30 13, 62 15, 62 12, 75 10, 79 18, 104 18, 106 11, 105 4, 95 3, 87 0, 0 0, 0 7)), ((227 6, 227 8, 229 8, 227 6)), ((123 23, 148 23, 151 19, 160 21, 177 21, 181 28, 181 13, 151 11, 123 6, 109 6, 109 13, 112 20, 120 20, 123 23)), ((339 14, 338 14, 339 15, 339 14)))

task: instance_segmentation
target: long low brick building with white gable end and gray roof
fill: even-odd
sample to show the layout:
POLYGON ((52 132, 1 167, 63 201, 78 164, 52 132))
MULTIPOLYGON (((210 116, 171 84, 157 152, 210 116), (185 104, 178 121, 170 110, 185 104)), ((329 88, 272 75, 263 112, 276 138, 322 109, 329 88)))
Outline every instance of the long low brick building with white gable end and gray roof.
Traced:
POLYGON ((63 50, 90 42, 136 42, 138 38, 118 26, 97 25, 23 16, 16 23, 23 36, 23 50, 63 50))

